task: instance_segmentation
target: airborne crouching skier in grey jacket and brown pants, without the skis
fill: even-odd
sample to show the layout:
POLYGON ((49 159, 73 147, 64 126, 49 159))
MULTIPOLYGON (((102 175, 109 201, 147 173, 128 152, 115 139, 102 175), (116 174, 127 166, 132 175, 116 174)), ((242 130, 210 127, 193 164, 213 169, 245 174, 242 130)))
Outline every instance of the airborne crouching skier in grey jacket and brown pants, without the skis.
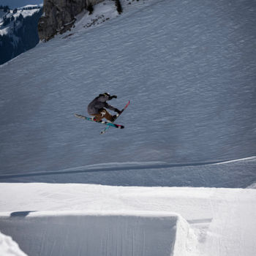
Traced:
POLYGON ((121 111, 117 108, 112 107, 107 103, 108 100, 117 98, 116 95, 110 96, 108 92, 104 94, 99 94, 87 108, 89 115, 94 116, 94 121, 102 121, 102 118, 106 118, 108 121, 113 122, 116 120, 117 116, 112 116, 105 108, 115 111, 116 113, 120 114, 121 111))

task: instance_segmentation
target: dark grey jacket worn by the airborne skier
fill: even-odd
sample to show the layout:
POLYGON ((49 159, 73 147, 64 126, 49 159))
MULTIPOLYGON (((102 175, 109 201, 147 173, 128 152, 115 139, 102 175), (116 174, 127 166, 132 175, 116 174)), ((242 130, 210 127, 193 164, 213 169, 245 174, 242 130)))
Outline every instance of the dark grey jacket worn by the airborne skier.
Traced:
POLYGON ((102 108, 108 108, 110 110, 116 111, 116 108, 113 108, 111 105, 107 103, 108 100, 112 99, 113 97, 108 95, 99 94, 87 108, 89 115, 95 115, 99 113, 99 110, 102 108))

